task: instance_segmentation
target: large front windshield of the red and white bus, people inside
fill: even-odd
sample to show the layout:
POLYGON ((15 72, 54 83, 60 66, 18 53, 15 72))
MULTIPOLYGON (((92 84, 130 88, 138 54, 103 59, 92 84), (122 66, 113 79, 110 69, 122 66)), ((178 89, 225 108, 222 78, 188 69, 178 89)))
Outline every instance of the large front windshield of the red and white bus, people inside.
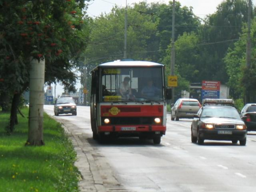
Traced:
POLYGON ((102 68, 102 102, 151 102, 164 100, 163 69, 147 68, 102 68))

